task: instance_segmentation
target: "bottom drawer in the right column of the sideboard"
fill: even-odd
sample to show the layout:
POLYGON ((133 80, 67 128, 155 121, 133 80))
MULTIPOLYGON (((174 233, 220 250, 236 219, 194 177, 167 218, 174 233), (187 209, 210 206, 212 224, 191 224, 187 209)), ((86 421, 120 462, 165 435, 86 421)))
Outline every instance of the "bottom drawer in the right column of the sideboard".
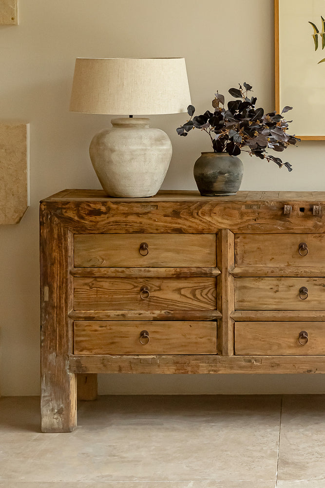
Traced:
POLYGON ((325 322, 236 322, 235 354, 322 356, 325 322), (304 331, 307 338, 303 336, 304 331))

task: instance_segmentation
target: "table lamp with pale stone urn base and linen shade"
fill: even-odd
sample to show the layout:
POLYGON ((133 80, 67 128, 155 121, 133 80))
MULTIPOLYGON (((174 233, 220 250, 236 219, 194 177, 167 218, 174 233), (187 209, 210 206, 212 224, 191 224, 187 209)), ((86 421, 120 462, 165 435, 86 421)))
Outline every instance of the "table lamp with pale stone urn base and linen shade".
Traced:
POLYGON ((165 132, 134 115, 187 112, 191 103, 184 58, 77 58, 70 111, 128 115, 96 134, 89 153, 111 197, 150 197, 172 158, 165 132))

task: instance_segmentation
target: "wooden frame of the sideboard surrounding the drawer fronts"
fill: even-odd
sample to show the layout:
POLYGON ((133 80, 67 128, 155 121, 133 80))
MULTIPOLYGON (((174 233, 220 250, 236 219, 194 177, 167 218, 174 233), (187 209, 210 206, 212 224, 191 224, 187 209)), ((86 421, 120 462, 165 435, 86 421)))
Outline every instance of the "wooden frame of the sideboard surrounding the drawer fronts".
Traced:
MULTIPOLYGON (((323 213, 312 214, 314 205, 325 204, 323 192, 238 192, 213 199, 197 192, 161 192, 148 199, 113 199, 100 190, 64 190, 40 204, 41 270, 41 419, 44 432, 68 432, 76 427, 76 378, 96 373, 325 373, 324 356, 235 356, 234 321, 294 320, 296 311, 256 312, 234 309, 236 276, 325 276, 322 268, 268 270, 234 265, 234 235, 238 233, 324 233, 323 213), (289 216, 284 205, 291 207, 289 216), (300 208, 305 208, 302 213, 300 208), (107 270, 75 268, 75 234, 153 233, 217 235, 217 268, 107 270), (90 272, 95 275, 89 274, 90 272), (209 311, 153 310, 144 320, 216 320, 217 355, 75 355, 74 320, 98 318, 98 311, 73 311, 74 276, 217 276, 217 309, 209 311), (101 274, 102 273, 102 274, 101 274), (108 274, 107 274, 108 273, 108 274), (158 273, 158 274, 155 274, 158 273), (260 273, 260 274, 259 274, 260 273), (268 274, 266 274, 268 273, 268 274), (300 274, 299 274, 300 273, 300 274), (308 274, 305 274, 308 273, 308 274), (190 315, 192 316, 190 317, 190 315), (268 315, 267 315, 268 314, 268 315), (148 317, 151 316, 152 319, 148 317), (203 318, 205 317, 205 318, 203 318), (266 318, 268 317, 268 319, 266 318), (285 319, 284 317, 290 317, 285 319)), ((103 312, 104 314, 107 312, 103 312)), ((136 312, 132 312, 134 317, 136 312)), ((323 320, 325 310, 303 312, 299 320, 323 320)), ((137 317, 127 320, 142 320, 137 317)), ((100 314, 99 314, 100 315, 100 314)), ((107 320, 121 320, 121 312, 107 320), (112 318, 113 317, 113 318, 112 318)), ((103 314, 100 320, 105 320, 103 314)), ((125 320, 125 318, 124 318, 125 320)))

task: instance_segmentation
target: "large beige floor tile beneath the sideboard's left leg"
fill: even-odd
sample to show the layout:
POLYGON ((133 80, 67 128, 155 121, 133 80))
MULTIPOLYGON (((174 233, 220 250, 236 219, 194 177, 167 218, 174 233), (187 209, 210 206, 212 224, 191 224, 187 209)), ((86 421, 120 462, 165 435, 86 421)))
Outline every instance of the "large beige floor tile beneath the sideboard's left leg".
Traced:
MULTIPOLYGON (((191 480, 211 481, 216 488, 228 488, 226 481, 231 488, 253 481, 268 488, 276 473, 280 401, 276 396, 99 397, 80 403, 79 427, 72 433, 34 435, 25 451, 17 436, 18 454, 0 481, 42 486, 78 481, 84 487, 191 480)), ((35 411, 27 417, 35 434, 35 411)), ((19 426, 14 432, 24 431, 23 422, 19 426)))

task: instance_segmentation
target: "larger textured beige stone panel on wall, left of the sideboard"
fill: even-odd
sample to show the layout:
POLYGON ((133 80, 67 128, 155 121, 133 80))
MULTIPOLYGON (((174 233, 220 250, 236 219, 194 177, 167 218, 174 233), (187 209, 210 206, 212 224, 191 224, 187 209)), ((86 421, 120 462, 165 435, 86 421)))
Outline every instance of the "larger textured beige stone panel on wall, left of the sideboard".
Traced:
POLYGON ((0 123, 0 224, 18 224, 29 205, 29 124, 0 123))

